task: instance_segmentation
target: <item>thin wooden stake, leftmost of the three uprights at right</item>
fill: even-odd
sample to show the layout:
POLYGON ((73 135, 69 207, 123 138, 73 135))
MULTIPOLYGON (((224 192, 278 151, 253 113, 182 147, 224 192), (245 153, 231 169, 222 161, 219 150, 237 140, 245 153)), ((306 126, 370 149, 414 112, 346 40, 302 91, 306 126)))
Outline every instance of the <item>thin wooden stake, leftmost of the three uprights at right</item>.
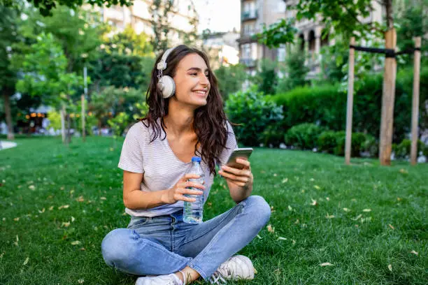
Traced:
MULTIPOLYGON (((355 45, 355 38, 350 39, 350 45, 355 45)), ((352 142, 352 108, 354 106, 354 63, 355 49, 349 49, 348 69, 348 103, 346 107, 346 140, 345 140, 345 164, 350 164, 351 142, 352 142)))

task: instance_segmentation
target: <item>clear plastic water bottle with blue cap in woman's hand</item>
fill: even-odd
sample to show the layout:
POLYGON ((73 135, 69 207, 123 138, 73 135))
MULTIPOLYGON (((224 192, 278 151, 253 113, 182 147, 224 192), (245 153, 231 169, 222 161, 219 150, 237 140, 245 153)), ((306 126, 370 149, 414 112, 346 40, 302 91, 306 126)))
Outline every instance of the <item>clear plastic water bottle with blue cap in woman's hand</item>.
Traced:
MULTIPOLYGON (((200 175, 199 178, 196 179, 190 179, 190 182, 197 182, 199 184, 204 183, 204 171, 201 168, 201 158, 199 156, 193 156, 192 157, 192 168, 190 168, 188 173, 197 174, 200 175)), ((194 188, 194 187, 188 187, 189 189, 194 189, 197 191, 202 191, 202 189, 194 188)), ((185 194, 186 197, 195 198, 196 201, 194 202, 187 202, 184 203, 184 209, 183 209, 183 221, 185 223, 191 223, 191 224, 200 224, 202 222, 202 216, 204 212, 204 194, 202 195, 190 195, 185 194)))

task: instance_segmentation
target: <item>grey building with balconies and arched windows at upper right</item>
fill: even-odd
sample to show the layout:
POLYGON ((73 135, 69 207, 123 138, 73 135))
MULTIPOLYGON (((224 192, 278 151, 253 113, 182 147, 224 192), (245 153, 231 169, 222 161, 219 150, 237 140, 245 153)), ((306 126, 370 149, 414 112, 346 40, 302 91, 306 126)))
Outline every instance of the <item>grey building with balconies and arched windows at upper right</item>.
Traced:
MULTIPOLYGON (((292 19, 296 17, 295 6, 299 0, 241 0, 241 38, 239 42, 240 62, 248 66, 250 73, 255 72, 257 60, 273 59, 285 60, 285 46, 270 50, 268 47, 257 43, 252 35, 262 31, 262 24, 269 26, 279 20, 292 19)), ((380 22, 382 20, 382 6, 378 1, 372 1, 373 12, 362 22, 380 22)), ((329 31, 324 34, 324 25, 320 20, 306 20, 296 22, 298 30, 297 43, 300 43, 301 50, 305 50, 309 55, 308 67, 311 78, 320 72, 320 50, 324 45, 333 45, 334 38, 329 36, 329 31)))

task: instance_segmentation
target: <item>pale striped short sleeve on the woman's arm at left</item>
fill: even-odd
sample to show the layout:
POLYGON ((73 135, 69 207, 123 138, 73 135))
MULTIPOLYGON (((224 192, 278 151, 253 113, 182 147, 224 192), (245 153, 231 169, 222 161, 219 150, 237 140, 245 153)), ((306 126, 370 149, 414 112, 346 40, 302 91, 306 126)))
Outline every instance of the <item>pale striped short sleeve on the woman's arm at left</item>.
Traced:
MULTIPOLYGON (((138 123, 137 123, 138 124, 138 123)), ((138 136, 138 126, 131 126, 123 142, 118 168, 133 173, 144 173, 143 167, 143 140, 138 136)))

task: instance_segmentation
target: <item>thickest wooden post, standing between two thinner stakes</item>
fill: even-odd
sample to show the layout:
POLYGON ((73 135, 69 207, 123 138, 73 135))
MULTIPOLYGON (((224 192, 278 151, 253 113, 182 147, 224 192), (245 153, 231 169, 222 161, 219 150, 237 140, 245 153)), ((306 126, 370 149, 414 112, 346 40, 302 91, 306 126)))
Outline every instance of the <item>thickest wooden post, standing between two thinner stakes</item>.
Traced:
MULTIPOLYGON (((385 32, 385 48, 395 50, 397 33, 395 29, 385 32)), ((395 79, 397 77, 397 61, 395 57, 385 58, 383 75, 382 117, 380 119, 380 165, 391 165, 392 131, 394 126, 395 79)))

